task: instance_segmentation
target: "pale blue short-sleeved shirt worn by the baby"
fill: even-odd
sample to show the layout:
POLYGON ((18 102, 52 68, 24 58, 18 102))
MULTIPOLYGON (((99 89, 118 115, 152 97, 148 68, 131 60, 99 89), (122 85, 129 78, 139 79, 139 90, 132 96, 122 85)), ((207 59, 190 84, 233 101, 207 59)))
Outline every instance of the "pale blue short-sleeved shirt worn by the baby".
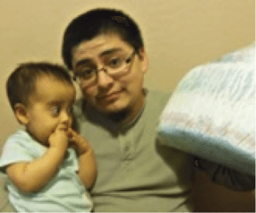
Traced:
MULTIPOLYGON (((0 168, 14 163, 31 162, 44 155, 47 147, 34 141, 24 130, 11 135, 3 147, 0 168)), ((18 212, 90 212, 92 202, 89 193, 80 181, 77 171, 79 163, 73 149, 59 171, 49 183, 37 193, 22 193, 8 179, 9 201, 18 212)))

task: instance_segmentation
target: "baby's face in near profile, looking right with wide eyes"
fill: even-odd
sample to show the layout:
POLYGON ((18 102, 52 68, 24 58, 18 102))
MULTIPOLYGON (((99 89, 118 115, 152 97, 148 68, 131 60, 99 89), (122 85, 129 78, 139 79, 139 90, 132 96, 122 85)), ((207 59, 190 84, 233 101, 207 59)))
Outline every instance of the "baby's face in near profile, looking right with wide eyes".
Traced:
POLYGON ((73 85, 69 83, 48 76, 39 78, 26 110, 28 133, 48 146, 49 135, 59 124, 65 129, 71 127, 75 94, 73 85))

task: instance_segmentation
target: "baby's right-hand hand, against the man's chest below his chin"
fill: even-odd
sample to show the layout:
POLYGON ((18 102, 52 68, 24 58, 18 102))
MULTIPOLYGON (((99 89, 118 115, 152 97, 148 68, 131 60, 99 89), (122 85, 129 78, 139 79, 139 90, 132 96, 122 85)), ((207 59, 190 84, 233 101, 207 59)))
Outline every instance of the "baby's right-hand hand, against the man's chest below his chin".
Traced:
POLYGON ((90 143, 71 128, 68 129, 67 135, 69 137, 70 147, 75 147, 79 154, 86 153, 91 149, 90 143))

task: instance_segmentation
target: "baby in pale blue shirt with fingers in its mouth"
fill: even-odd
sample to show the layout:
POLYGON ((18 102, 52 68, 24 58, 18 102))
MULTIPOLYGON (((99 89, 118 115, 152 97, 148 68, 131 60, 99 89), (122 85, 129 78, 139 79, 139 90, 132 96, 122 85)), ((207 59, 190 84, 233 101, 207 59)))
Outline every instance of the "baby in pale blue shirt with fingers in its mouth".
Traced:
POLYGON ((18 212, 91 212, 87 189, 96 181, 90 144, 71 129, 75 89, 64 68, 21 64, 7 82, 18 122, 0 168, 7 174, 10 203, 18 212))

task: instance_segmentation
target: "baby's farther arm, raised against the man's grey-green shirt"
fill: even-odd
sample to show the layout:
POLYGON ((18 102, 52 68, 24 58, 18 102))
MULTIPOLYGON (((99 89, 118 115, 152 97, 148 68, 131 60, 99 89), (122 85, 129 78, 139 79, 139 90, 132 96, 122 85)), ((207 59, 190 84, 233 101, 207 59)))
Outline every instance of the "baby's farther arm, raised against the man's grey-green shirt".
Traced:
POLYGON ((69 130, 69 136, 79 153, 79 177, 84 182, 84 186, 90 189, 95 183, 97 176, 93 148, 81 135, 71 129, 69 130))

